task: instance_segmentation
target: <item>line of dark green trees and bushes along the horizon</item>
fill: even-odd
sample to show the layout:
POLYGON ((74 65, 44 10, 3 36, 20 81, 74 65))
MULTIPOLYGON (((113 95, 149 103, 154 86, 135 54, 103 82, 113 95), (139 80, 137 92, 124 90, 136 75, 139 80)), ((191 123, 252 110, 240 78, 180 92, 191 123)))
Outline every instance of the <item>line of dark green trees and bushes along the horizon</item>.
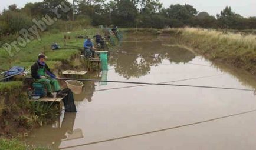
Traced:
MULTIPOLYGON (((15 4, 8 6, 0 14, 0 34, 14 34, 21 28, 28 28, 32 24, 32 18, 52 14, 51 8, 62 1, 27 3, 21 9, 15 4)), ((87 22, 93 26, 256 29, 256 17, 245 18, 232 11, 229 6, 215 17, 208 12, 198 12, 189 4, 172 4, 164 8, 159 0, 74 0, 74 4, 64 1, 72 10, 63 15, 62 21, 80 21, 83 24, 87 22)))

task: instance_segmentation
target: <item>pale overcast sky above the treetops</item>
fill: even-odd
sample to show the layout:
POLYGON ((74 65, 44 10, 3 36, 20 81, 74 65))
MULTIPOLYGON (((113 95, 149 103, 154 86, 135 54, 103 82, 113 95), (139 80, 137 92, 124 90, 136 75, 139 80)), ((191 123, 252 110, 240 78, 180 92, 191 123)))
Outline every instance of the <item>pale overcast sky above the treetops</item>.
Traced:
MULTIPOLYGON (((7 8, 8 5, 17 4, 20 7, 27 2, 38 2, 40 0, 0 0, 0 10, 7 8)), ((41 0, 42 1, 42 0, 41 0)), ((72 1, 72 0, 68 0, 72 1)), ((209 14, 216 16, 225 6, 231 6, 233 11, 242 16, 256 16, 256 1, 255 0, 159 0, 164 7, 169 7, 170 4, 189 4, 193 5, 199 12, 206 11, 209 14)))

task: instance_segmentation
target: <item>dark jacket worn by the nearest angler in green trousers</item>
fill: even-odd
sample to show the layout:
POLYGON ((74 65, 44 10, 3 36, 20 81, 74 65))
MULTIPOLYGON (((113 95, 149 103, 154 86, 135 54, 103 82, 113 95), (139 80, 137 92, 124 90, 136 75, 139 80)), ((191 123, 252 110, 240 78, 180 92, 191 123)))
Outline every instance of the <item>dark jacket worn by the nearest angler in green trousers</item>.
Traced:
POLYGON ((45 65, 40 64, 38 61, 35 62, 34 65, 31 66, 31 75, 34 79, 41 79, 40 75, 37 74, 37 71, 39 68, 44 68, 45 67, 45 73, 49 76, 51 76, 51 78, 56 78, 56 76, 51 72, 50 68, 47 66, 47 64, 45 63, 45 65))

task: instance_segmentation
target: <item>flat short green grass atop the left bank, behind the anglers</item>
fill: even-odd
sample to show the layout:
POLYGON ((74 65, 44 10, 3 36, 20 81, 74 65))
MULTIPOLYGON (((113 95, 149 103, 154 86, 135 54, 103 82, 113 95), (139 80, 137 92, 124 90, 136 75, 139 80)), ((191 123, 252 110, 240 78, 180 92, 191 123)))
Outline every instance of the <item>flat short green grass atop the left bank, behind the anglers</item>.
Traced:
MULTIPOLYGON (((69 42, 76 43, 76 46, 83 47, 84 39, 78 39, 76 40, 76 35, 88 35, 93 36, 97 32, 99 32, 100 29, 83 29, 80 31, 74 31, 74 32, 59 32, 52 34, 50 32, 45 32, 41 35, 41 41, 34 40, 27 44, 25 48, 20 47, 20 51, 16 52, 14 49, 12 49, 12 52, 15 54, 12 58, 9 57, 8 52, 5 51, 5 49, 0 48, 0 68, 8 68, 11 66, 11 64, 18 64, 19 62, 32 62, 37 60, 37 56, 40 53, 48 54, 48 57, 50 58, 50 61, 62 61, 64 59, 68 58, 68 55, 73 55, 73 52, 68 52, 67 54, 52 54, 51 51, 51 45, 54 43, 58 43, 62 48, 64 47, 64 36, 67 36, 67 45, 69 42), (70 38, 70 39, 68 39, 70 38), (49 55, 50 54, 50 55, 49 55), (10 65, 6 65, 10 64, 10 65)), ((65 51, 64 51, 65 52, 65 51)), ((60 52, 61 53, 61 52, 60 52)))

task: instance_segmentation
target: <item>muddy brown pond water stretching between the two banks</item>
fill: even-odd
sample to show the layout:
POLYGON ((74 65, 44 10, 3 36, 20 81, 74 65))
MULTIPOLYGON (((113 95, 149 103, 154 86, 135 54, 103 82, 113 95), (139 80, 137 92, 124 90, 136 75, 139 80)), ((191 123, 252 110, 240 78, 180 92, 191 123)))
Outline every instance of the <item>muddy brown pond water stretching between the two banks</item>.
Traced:
MULTIPOLYGON (((255 78, 243 71, 166 45, 166 39, 139 37, 129 36, 119 49, 123 53, 110 52, 108 71, 87 78, 256 88, 255 78)), ((74 96, 77 113, 63 112, 59 121, 35 129, 25 141, 52 149, 256 149, 256 112, 105 141, 251 111, 254 92, 86 82, 83 93, 74 96)))

